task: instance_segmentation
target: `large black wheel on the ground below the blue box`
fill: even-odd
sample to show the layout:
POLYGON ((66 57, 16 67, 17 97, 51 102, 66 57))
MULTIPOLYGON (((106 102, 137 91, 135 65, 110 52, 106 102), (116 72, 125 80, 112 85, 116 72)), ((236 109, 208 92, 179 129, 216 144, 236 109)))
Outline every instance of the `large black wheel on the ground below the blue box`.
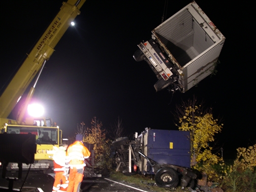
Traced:
POLYGON ((157 171, 155 181, 159 187, 175 188, 179 183, 179 176, 173 168, 164 167, 157 171))

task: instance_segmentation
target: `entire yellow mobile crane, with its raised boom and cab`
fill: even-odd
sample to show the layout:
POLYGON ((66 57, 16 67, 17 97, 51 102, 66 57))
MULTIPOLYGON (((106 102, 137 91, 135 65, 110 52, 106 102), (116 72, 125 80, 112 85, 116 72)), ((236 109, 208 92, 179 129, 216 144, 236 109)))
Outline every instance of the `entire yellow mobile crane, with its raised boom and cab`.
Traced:
MULTIPOLYGON (((50 118, 25 118, 25 114, 44 64, 53 54, 55 46, 66 32, 71 22, 80 14, 79 9, 85 1, 86 0, 67 0, 67 2, 62 3, 61 10, 39 38, 24 63, 0 96, 0 133, 8 133, 2 134, 1 138, 5 138, 5 135, 12 134, 35 135, 36 153, 34 155, 34 163, 31 165, 23 163, 23 170, 43 170, 47 172, 51 171, 53 168, 52 153, 54 147, 59 147, 62 143, 62 130, 57 125, 52 125, 52 121, 49 120, 50 118), (9 114, 36 75, 37 78, 35 82, 33 82, 34 84, 28 96, 26 96, 25 102, 22 101, 22 107, 19 109, 17 119, 14 121, 8 119, 9 114)), ((13 137, 8 136, 8 138, 16 138, 15 135, 13 137)), ((20 138, 19 135, 17 135, 17 138, 20 138)), ((7 142, 6 146, 11 145, 13 142, 8 139, 5 139, 5 141, 7 142)), ((26 146, 22 145, 22 147, 25 148, 26 146)), ((14 148, 13 150, 19 149, 14 148)), ((26 156, 27 154, 22 155, 26 156)), ((6 154, 4 154, 4 157, 0 157, 0 161, 4 161, 4 170, 20 170, 20 164, 16 161, 6 161, 5 158, 7 156, 5 156, 6 154)))

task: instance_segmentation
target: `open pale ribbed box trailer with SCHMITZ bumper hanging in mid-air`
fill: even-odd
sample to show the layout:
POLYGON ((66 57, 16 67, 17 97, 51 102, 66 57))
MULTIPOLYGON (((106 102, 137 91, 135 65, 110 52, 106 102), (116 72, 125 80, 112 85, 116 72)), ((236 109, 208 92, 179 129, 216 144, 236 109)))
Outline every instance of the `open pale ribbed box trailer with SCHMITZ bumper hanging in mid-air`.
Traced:
POLYGON ((157 69, 165 81, 168 80, 166 74, 172 77, 168 71, 171 68, 168 61, 171 62, 177 70, 176 75, 183 92, 214 71, 225 40, 224 35, 194 1, 160 24, 152 33, 162 53, 147 56, 150 49, 145 45, 148 45, 148 41, 138 47, 155 68, 156 65, 160 67, 162 63, 166 64, 167 67, 161 67, 162 72, 157 69), (167 62, 164 57, 168 58, 167 62), (164 62, 161 63, 159 59, 164 62))

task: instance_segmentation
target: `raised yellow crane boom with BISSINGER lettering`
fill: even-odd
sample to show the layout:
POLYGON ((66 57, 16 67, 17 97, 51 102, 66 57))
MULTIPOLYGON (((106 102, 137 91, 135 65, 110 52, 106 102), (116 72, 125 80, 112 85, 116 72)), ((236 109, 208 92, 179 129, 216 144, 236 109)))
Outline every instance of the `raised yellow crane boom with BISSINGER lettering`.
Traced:
POLYGON ((70 23, 80 14, 80 8, 86 0, 67 0, 53 19, 49 27, 39 38, 32 51, 21 65, 5 91, 0 96, 1 124, 7 119, 32 79, 38 73, 44 61, 48 61, 54 48, 68 29, 70 23))

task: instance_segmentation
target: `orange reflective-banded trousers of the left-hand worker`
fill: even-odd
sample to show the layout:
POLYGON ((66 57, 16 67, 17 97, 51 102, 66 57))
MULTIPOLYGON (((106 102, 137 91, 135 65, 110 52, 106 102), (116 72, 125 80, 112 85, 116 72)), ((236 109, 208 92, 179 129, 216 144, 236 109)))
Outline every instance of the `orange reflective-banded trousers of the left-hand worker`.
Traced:
POLYGON ((53 183, 53 192, 66 192, 68 181, 64 176, 64 171, 58 171, 55 173, 55 181, 53 183))

